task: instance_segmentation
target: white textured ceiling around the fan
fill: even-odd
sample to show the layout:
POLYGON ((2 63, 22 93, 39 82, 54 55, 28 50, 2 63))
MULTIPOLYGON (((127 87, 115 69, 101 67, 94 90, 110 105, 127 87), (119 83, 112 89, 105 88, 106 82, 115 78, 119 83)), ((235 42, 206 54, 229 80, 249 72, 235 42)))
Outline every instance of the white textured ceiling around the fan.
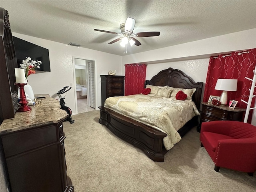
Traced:
POLYGON ((12 32, 116 55, 124 55, 115 34, 126 18, 136 19, 134 32, 160 31, 160 36, 136 38, 127 54, 256 28, 255 0, 1 0, 12 32))

